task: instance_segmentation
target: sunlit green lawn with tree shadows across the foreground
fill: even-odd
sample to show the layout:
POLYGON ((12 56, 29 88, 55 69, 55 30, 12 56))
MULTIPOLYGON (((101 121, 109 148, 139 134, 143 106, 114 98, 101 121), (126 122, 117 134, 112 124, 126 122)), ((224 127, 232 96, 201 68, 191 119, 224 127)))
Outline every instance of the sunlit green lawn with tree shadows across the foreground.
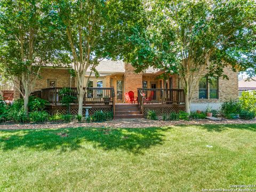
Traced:
POLYGON ((0 131, 0 191, 229 188, 255 157, 255 124, 0 131))

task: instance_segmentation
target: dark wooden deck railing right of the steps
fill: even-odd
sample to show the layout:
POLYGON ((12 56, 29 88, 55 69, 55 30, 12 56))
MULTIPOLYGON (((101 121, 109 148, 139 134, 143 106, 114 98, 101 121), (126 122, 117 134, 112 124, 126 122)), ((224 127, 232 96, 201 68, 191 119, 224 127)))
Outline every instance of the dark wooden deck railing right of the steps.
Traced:
POLYGON ((139 104, 161 103, 161 104, 183 104, 185 94, 182 89, 138 89, 139 104))

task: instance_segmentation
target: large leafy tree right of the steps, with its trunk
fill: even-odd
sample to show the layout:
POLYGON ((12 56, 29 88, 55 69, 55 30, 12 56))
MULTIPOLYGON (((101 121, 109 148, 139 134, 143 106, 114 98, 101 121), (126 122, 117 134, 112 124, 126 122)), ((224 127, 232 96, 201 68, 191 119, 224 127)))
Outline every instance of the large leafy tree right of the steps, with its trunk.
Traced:
POLYGON ((202 70, 228 78, 223 68, 229 63, 234 71, 238 65, 256 73, 255 6, 254 0, 147 1, 144 23, 128 38, 126 60, 137 72, 155 67, 178 74, 190 102, 196 86, 189 85, 202 70))

